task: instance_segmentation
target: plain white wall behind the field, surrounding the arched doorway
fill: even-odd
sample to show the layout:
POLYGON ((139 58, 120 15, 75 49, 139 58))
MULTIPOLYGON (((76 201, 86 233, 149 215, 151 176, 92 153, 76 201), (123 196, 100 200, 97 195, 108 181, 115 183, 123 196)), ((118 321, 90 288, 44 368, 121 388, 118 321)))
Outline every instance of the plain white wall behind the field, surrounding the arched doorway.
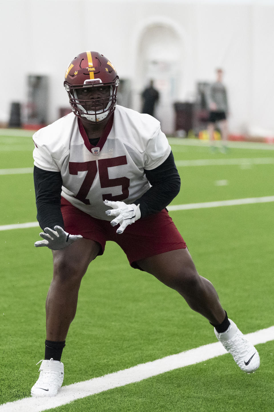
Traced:
POLYGON ((76 54, 98 50, 137 96, 145 86, 138 50, 147 28, 173 30, 182 45, 177 97, 193 97, 197 80, 224 68, 230 130, 274 135, 274 5, 180 1, 0 0, 0 121, 12 101, 26 102, 26 75, 50 78, 49 122, 68 106, 64 71, 76 54))

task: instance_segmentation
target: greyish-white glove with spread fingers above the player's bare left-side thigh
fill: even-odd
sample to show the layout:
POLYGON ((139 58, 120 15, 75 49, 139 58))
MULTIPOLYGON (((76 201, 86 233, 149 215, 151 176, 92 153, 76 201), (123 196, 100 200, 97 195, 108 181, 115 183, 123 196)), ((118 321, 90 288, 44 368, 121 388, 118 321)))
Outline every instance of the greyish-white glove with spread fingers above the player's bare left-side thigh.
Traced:
POLYGON ((40 236, 45 240, 35 242, 34 246, 37 248, 41 246, 48 246, 51 250, 60 250, 66 248, 77 239, 83 237, 81 234, 68 234, 60 226, 54 226, 54 229, 55 230, 52 230, 49 227, 46 227, 46 229, 44 229, 45 233, 40 233, 40 236))

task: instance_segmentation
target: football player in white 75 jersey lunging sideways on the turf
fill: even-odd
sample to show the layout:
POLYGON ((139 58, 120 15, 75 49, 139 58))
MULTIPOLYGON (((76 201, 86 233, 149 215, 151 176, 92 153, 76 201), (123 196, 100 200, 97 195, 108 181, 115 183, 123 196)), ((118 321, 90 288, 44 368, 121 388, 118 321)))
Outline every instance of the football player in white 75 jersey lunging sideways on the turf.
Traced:
POLYGON ((37 131, 33 140, 37 219, 53 254, 46 298, 45 358, 32 396, 55 396, 64 377, 62 350, 87 267, 106 241, 129 264, 177 290, 214 326, 216 337, 245 372, 257 350, 228 319, 212 283, 199 276, 166 206, 180 177, 160 123, 116 105, 119 77, 106 56, 83 52, 65 72, 71 114, 37 131))

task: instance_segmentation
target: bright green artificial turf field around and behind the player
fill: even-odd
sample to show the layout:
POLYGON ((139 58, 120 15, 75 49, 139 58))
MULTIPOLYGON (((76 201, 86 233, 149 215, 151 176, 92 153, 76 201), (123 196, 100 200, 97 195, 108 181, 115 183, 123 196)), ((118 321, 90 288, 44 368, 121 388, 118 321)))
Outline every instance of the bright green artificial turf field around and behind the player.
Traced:
MULTIPOLYGON (((39 376, 36 363, 44 358, 52 258, 48 248, 34 247, 41 230, 35 223, 32 132, 0 132, 0 412, 273 411, 273 332, 265 341, 258 333, 258 342, 265 342, 256 344, 261 365, 250 375, 228 353, 198 361, 193 351, 187 366, 155 376, 148 372, 140 382, 136 377, 112 389, 102 379, 98 393, 81 399, 77 391, 74 400, 66 398, 70 389, 62 388, 59 403, 58 394, 53 404, 39 403, 40 398, 35 405, 30 389, 39 376)), ((199 274, 214 284, 228 317, 244 334, 269 330, 274 325, 274 145, 230 142, 223 154, 198 140, 171 138, 170 144, 182 183, 169 213, 199 274), (235 202, 211 203, 228 200, 235 202)), ((177 292, 132 269, 109 242, 82 281, 62 355, 63 386, 202 345, 206 352, 215 342, 205 318, 177 292)))

